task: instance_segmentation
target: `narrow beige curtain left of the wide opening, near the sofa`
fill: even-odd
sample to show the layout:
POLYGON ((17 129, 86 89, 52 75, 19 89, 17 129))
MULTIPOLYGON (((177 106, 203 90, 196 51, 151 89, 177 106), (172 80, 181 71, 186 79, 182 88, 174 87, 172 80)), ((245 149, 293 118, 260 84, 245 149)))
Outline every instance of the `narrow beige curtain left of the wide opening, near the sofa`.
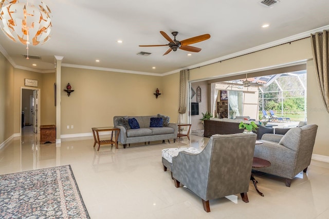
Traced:
POLYGON ((187 97, 188 97, 188 82, 190 78, 190 72, 188 69, 180 71, 179 79, 179 116, 178 123, 182 122, 182 114, 186 113, 187 97))

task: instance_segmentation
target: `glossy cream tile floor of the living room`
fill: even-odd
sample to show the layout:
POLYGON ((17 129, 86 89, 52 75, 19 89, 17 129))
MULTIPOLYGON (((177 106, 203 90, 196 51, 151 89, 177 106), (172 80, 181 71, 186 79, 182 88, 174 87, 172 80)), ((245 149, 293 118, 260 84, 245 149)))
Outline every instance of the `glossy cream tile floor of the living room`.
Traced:
MULTIPOLYGON (((256 173, 260 196, 250 182, 249 203, 240 195, 210 201, 210 213, 200 198, 175 188, 164 172, 161 149, 203 148, 207 138, 182 137, 176 143, 133 145, 123 149, 93 148, 92 138, 38 143, 29 127, 0 150, 0 174, 71 165, 91 218, 329 218, 329 164, 312 161, 288 188, 282 178, 256 173), (22 139, 22 141, 21 141, 22 139)), ((172 142, 172 141, 171 141, 172 142)), ((0 209, 1 210, 1 209, 0 209)))

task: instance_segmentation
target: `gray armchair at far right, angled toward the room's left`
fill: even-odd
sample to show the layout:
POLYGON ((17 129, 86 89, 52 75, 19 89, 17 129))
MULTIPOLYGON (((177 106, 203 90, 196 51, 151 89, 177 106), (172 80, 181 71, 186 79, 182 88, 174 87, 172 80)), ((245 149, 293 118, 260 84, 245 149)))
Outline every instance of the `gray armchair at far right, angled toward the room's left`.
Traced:
POLYGON ((271 166, 257 170, 284 177, 290 187, 291 180, 302 170, 306 172, 310 164, 317 129, 317 125, 306 125, 291 128, 284 135, 264 134, 254 156, 269 161, 271 166))

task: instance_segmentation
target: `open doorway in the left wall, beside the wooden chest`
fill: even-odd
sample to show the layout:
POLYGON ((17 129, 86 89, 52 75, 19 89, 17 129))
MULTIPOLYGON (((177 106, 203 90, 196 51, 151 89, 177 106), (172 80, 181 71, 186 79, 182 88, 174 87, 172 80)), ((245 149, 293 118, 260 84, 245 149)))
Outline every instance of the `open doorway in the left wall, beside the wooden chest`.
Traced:
POLYGON ((21 135, 25 127, 39 133, 40 128, 40 89, 21 87, 21 135))

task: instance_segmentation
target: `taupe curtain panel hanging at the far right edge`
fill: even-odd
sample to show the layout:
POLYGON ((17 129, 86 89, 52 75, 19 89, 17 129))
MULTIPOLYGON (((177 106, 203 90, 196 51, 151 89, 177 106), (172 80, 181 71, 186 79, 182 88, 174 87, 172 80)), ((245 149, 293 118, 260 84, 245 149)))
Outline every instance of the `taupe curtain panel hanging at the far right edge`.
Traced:
POLYGON ((315 72, 317 76, 318 86, 320 93, 325 104, 326 110, 329 113, 329 41, 328 31, 316 32, 310 34, 312 51, 313 51, 313 62, 315 72))

